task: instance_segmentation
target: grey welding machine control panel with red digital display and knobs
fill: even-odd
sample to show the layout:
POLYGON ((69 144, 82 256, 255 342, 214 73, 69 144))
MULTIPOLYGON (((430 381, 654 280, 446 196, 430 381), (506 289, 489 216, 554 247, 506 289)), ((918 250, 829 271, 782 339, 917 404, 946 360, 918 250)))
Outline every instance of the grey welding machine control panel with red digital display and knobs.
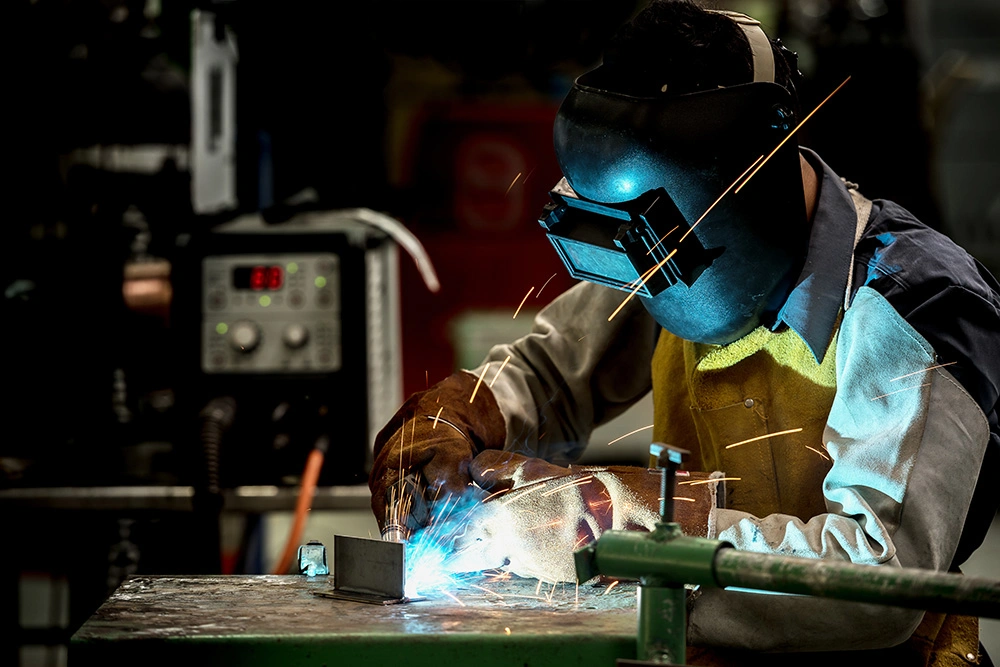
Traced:
POLYGON ((205 373, 326 373, 342 364, 340 258, 331 253, 202 260, 205 373))

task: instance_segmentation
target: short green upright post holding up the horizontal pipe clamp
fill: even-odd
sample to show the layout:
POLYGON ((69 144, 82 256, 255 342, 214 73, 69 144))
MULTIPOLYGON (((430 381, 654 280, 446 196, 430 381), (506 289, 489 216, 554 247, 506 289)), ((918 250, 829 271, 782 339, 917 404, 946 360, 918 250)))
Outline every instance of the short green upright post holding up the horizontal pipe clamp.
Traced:
POLYGON ((687 661, 687 596, 683 586, 639 586, 636 657, 683 665, 687 661))

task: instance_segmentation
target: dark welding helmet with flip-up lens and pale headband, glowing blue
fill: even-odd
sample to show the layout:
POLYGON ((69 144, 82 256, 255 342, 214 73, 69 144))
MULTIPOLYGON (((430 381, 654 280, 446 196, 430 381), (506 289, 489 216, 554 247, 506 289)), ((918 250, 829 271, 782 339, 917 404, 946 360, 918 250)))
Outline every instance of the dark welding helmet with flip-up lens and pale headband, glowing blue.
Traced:
POLYGON ((539 218, 573 277, 635 292, 664 329, 712 344, 780 307, 808 238, 794 101, 757 21, 725 13, 748 36, 754 80, 637 95, 607 61, 579 77, 554 124, 563 178, 539 218))

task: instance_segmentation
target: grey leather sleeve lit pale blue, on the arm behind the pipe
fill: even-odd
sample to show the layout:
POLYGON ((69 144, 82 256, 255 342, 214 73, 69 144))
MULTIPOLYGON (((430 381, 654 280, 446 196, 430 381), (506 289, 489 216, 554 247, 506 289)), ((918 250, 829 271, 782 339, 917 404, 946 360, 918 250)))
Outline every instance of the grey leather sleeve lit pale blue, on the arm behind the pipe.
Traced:
MULTIPOLYGON (((990 431, 947 368, 932 368, 939 363, 880 294, 861 288, 838 334, 838 391, 824 435, 833 459, 823 485, 828 512, 803 521, 718 509, 714 536, 756 552, 947 570, 990 431), (915 370, 924 372, 912 382, 893 381, 915 370)), ((705 589, 689 640, 765 651, 879 648, 904 641, 922 616, 705 589)))

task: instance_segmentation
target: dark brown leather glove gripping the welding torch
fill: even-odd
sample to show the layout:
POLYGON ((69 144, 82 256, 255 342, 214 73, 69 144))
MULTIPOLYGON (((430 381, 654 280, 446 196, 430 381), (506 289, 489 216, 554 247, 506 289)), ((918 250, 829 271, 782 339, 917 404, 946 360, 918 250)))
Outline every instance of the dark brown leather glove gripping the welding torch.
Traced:
POLYGON ((504 446, 503 415, 490 388, 480 383, 477 389, 477 381, 459 371, 413 394, 375 436, 368 488, 379 529, 386 523, 390 496, 398 498, 400 491, 417 496, 413 511, 403 517, 409 528, 426 525, 429 516, 421 501, 464 493, 472 481, 473 457, 504 446))

